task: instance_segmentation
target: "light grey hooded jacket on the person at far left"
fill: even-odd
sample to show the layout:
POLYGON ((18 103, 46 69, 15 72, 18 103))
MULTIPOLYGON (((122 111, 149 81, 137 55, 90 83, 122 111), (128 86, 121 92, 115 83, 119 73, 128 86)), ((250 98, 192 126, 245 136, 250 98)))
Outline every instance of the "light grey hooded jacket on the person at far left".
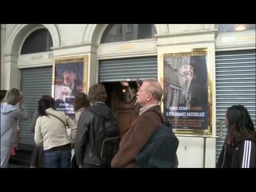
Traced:
POLYGON ((13 146, 17 137, 18 119, 28 119, 24 103, 10 105, 1 103, 1 145, 13 146))

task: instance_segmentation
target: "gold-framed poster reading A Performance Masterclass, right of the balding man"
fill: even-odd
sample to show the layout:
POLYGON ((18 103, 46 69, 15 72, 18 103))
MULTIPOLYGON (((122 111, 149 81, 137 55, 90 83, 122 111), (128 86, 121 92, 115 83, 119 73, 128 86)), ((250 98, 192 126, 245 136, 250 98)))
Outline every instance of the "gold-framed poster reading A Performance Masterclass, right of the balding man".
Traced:
POLYGON ((209 48, 163 54, 163 114, 177 135, 212 134, 209 48))

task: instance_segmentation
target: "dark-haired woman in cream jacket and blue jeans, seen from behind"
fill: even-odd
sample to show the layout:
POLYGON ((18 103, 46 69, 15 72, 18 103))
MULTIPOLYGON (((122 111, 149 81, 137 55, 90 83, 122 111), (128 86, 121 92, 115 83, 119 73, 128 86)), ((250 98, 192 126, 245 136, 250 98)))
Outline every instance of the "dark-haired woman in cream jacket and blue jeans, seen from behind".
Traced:
POLYGON ((48 99, 38 101, 38 113, 35 143, 43 144, 46 168, 69 168, 71 145, 76 137, 75 122, 62 111, 54 110, 48 99), (71 130, 70 138, 67 129, 71 130))

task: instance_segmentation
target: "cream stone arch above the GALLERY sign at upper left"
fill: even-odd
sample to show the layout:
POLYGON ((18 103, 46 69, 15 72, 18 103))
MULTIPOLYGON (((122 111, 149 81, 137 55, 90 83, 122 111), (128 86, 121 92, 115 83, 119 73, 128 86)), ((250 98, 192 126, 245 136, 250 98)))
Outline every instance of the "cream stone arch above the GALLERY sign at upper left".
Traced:
POLYGON ((5 55, 19 55, 19 48, 24 38, 34 29, 46 28, 49 30, 53 47, 60 46, 60 38, 57 27, 54 24, 17 24, 13 27, 4 46, 5 55))

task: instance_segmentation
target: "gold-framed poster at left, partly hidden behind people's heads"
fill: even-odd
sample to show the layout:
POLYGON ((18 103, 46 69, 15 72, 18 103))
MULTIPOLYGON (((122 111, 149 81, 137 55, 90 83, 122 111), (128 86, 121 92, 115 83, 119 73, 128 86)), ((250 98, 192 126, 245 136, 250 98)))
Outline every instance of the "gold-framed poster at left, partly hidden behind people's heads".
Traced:
POLYGON ((74 117, 74 98, 88 92, 88 55, 55 58, 52 70, 52 97, 56 110, 74 117))

